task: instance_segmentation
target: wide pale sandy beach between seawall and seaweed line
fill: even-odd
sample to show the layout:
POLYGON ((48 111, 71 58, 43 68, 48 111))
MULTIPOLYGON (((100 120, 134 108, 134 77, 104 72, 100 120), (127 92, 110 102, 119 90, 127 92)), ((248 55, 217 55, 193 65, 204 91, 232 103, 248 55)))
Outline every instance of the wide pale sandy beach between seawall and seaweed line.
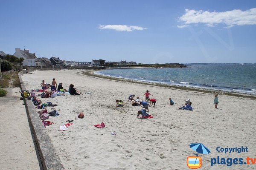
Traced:
MULTIPOLYGON (((219 105, 212 105, 213 94, 167 89, 133 83, 117 82, 77 74, 81 70, 34 71, 22 77, 27 89, 41 88, 42 79, 51 83, 70 83, 80 96, 40 98, 58 104, 60 116, 48 120, 50 138, 66 169, 79 170, 183 170, 186 158, 194 156, 190 143, 202 142, 211 153, 202 155, 201 169, 230 169, 227 165, 210 166, 210 158, 245 158, 255 156, 255 104, 253 99, 218 96, 219 105), (130 94, 140 96, 149 90, 157 99, 156 108, 149 108, 153 119, 137 119, 141 106, 132 107, 130 94), (89 95, 87 92, 91 92, 89 95), (169 105, 169 96, 175 102, 169 105), (190 98, 194 111, 177 110, 190 98), (125 100, 124 108, 116 108, 115 99, 125 100), (82 112, 84 119, 75 121, 82 112), (65 120, 73 119, 69 130, 58 131, 65 120), (104 122, 105 128, 93 124, 104 122), (115 131, 117 136, 112 136, 115 131), (247 146, 247 153, 218 153, 216 147, 247 146)), ((37 93, 38 94, 38 93, 37 93)), ((47 108, 52 111, 52 107, 47 108)), ((38 121, 40 119, 38 118, 38 121)), ((253 169, 255 165, 232 165, 233 170, 253 169)))

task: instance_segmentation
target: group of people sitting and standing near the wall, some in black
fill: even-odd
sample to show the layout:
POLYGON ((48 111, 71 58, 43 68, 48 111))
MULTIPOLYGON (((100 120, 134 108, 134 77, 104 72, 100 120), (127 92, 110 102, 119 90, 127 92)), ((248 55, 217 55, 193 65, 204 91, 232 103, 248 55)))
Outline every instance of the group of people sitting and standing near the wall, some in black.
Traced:
POLYGON ((48 88, 51 88, 51 92, 53 91, 62 91, 62 92, 69 92, 71 95, 80 95, 81 92, 77 92, 76 91, 76 88, 74 88, 74 85, 73 84, 70 84, 69 86, 69 89, 65 89, 63 88, 62 86, 62 82, 58 85, 58 88, 56 89, 57 87, 57 82, 55 81, 55 78, 52 79, 52 85, 49 85, 47 83, 44 82, 44 80, 42 81, 41 83, 41 87, 43 90, 47 90, 48 88))

